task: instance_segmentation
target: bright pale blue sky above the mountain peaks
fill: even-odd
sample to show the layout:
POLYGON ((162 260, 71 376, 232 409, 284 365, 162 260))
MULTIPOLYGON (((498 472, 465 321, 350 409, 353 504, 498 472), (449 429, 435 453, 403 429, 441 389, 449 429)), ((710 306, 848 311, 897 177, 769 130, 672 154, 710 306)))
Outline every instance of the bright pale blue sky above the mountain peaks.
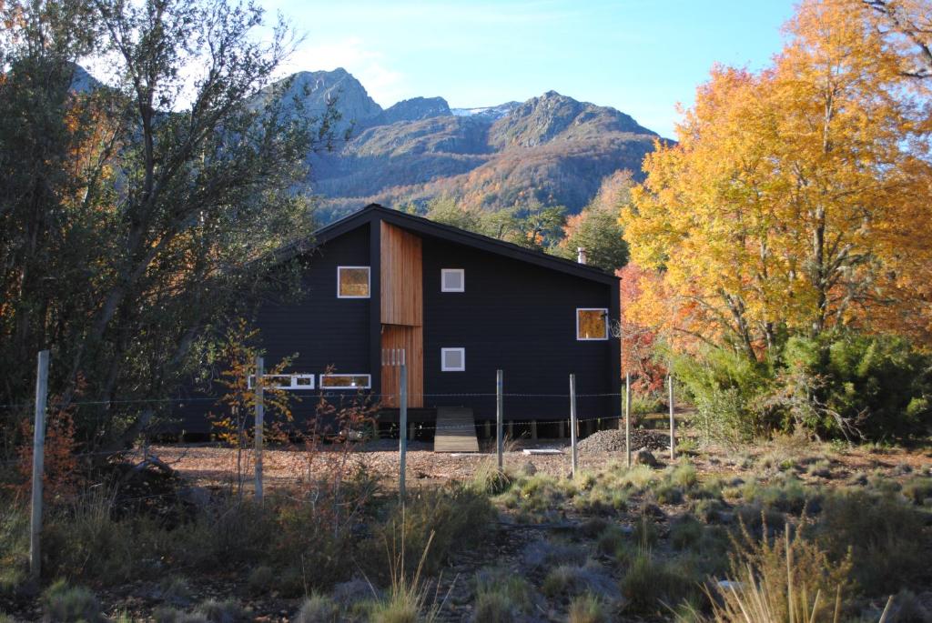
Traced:
POLYGON ((306 39, 288 71, 344 67, 382 106, 453 107, 547 90, 609 105, 672 136, 714 62, 760 68, 791 0, 265 0, 306 39))

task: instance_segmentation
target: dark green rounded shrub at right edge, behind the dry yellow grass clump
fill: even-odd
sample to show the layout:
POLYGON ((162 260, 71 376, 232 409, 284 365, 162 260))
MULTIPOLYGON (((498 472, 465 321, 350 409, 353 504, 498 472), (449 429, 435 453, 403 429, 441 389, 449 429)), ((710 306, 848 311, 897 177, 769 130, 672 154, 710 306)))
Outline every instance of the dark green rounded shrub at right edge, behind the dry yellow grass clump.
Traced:
POLYGON ((896 592, 928 573, 922 518, 892 496, 860 490, 830 495, 815 533, 835 558, 851 551, 854 578, 871 595, 896 592))

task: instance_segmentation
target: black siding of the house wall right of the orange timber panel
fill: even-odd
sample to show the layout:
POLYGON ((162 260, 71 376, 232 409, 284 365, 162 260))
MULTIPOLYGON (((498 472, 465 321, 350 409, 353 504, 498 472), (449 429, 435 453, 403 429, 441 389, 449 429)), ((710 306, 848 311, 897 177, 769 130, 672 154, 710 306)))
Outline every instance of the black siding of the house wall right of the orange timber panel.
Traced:
MULTIPOLYGON (((612 310, 613 288, 542 266, 424 237, 424 406, 472 406, 479 419, 493 417, 491 397, 437 394, 494 393, 495 371, 504 372, 506 419, 569 416, 569 373, 577 392, 616 389, 618 362, 612 340, 576 340, 576 308, 612 310), (440 290, 441 268, 465 270, 465 292, 440 290), (442 347, 466 348, 466 372, 441 372, 442 347)), ((616 318, 612 318, 616 319, 616 318)), ((578 401, 581 418, 617 415, 616 400, 578 401)))

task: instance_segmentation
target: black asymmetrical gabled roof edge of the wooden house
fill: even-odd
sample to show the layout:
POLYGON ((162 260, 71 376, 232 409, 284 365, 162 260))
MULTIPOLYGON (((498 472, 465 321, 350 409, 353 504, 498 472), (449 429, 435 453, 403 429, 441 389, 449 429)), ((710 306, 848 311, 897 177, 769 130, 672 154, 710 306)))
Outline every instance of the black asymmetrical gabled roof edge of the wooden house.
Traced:
MULTIPOLYGON (((361 227, 365 223, 372 223, 375 221, 385 221, 386 223, 403 227, 404 229, 417 232, 418 234, 442 238, 450 242, 490 253, 496 253, 514 260, 528 262, 529 264, 537 264, 544 268, 569 273, 576 277, 609 284, 618 280, 614 275, 610 275, 596 266, 579 264, 561 257, 548 255, 542 251, 526 249, 511 242, 499 240, 498 238, 482 236, 481 234, 475 234, 465 229, 459 229, 459 227, 436 223, 421 216, 415 216, 399 210, 391 210, 377 203, 370 203, 362 210, 353 212, 339 221, 318 229, 314 232, 314 239, 311 244, 313 246, 321 245, 327 240, 332 240, 337 236, 346 234, 357 227, 361 227)), ((295 245, 289 250, 282 250, 282 257, 294 256, 303 251, 307 251, 307 248, 302 245, 295 245)))

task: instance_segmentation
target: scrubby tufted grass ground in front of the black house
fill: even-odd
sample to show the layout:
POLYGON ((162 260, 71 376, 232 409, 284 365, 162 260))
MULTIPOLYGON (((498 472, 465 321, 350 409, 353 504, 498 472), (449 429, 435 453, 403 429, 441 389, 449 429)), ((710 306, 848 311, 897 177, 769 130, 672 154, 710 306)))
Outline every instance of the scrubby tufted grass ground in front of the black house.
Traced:
POLYGON ((0 610, 75 621, 782 621, 791 610, 876 621, 889 605, 886 621, 932 620, 928 448, 780 439, 726 450, 687 436, 676 462, 657 452, 655 467, 581 454, 572 480, 569 454, 521 446, 500 473, 494 455, 414 444, 404 508, 397 454, 384 449, 268 451, 260 508, 248 485, 238 494, 233 451, 154 448, 178 474, 149 479, 154 503, 112 483, 53 501, 40 585, 25 577, 26 509, 6 506, 0 610))

